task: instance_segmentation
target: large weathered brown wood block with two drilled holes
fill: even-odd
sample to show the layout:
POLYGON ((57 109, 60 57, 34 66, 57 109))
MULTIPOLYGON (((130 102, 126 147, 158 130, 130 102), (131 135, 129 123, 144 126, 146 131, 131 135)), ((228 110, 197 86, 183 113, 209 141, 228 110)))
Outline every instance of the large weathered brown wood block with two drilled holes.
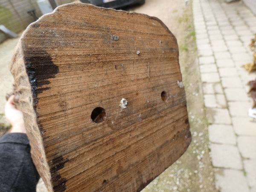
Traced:
POLYGON ((139 191, 191 142, 177 41, 155 17, 60 6, 10 70, 49 191, 139 191))

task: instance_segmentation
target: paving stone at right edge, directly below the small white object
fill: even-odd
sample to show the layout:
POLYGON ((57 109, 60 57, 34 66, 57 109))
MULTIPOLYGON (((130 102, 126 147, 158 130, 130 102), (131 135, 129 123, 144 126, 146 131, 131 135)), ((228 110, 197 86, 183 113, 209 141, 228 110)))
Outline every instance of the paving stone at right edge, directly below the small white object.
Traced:
POLYGON ((250 117, 232 118, 234 131, 238 135, 256 136, 256 119, 250 117))

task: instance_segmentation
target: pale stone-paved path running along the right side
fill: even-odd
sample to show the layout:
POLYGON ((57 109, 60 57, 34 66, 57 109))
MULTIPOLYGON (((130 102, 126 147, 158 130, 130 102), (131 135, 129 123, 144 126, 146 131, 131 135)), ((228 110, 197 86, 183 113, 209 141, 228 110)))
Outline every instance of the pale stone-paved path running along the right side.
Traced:
POLYGON ((198 61, 204 92, 216 189, 256 192, 256 119, 241 67, 253 61, 248 45, 256 16, 242 1, 193 0, 198 61))

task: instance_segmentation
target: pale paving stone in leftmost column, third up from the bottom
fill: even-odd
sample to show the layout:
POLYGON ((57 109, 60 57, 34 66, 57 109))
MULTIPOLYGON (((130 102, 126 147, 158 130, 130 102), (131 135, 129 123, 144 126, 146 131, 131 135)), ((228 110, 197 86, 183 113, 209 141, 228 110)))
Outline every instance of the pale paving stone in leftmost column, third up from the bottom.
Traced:
POLYGON ((236 145, 236 136, 231 125, 212 124, 208 126, 209 141, 212 143, 236 145))

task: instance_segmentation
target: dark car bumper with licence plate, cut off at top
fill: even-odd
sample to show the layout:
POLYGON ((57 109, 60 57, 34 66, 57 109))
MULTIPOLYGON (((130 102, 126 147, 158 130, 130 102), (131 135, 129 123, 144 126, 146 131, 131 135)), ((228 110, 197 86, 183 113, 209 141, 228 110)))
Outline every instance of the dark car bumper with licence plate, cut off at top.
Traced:
POLYGON ((127 6, 142 5, 145 0, 80 0, 82 3, 90 3, 99 7, 119 9, 127 6))

